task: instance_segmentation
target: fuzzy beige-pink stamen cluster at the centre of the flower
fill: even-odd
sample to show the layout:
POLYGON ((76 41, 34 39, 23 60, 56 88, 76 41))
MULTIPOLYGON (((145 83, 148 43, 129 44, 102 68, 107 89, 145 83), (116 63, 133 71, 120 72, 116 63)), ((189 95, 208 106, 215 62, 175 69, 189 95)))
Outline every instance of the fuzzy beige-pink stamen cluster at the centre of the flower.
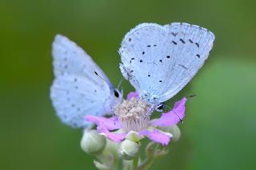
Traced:
POLYGON ((118 117, 118 121, 122 123, 122 129, 126 132, 131 130, 140 132, 147 128, 150 117, 146 113, 150 106, 145 101, 137 100, 134 97, 129 101, 124 100, 114 110, 114 114, 118 117))

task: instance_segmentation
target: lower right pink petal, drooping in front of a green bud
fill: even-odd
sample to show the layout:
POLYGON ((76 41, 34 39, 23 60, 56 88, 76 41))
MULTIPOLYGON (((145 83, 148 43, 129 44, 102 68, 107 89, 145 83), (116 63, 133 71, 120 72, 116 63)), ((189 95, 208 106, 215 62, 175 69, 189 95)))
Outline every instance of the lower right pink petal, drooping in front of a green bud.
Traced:
POLYGON ((168 132, 162 132, 160 130, 154 129, 153 132, 149 130, 143 130, 139 133, 141 136, 147 136, 150 140, 160 143, 162 145, 167 145, 170 142, 172 135, 168 132))

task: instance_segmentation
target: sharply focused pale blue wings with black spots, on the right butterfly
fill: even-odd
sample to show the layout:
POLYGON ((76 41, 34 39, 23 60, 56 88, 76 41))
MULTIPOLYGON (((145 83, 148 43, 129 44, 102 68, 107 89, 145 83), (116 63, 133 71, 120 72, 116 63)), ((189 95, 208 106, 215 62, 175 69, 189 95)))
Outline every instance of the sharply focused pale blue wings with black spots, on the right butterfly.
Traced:
POLYGON ((144 23, 126 34, 119 49, 120 69, 151 104, 169 100, 206 61, 214 34, 200 26, 144 23))

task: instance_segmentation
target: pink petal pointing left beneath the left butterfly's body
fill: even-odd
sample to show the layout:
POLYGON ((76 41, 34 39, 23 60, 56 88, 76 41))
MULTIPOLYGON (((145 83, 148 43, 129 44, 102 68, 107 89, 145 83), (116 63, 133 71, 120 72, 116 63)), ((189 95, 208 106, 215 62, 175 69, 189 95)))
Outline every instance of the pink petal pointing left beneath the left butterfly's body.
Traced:
POLYGON ((122 128, 122 125, 118 121, 118 118, 115 116, 106 118, 106 117, 97 117, 97 116, 87 115, 86 121, 94 122, 96 125, 103 124, 109 130, 122 128))

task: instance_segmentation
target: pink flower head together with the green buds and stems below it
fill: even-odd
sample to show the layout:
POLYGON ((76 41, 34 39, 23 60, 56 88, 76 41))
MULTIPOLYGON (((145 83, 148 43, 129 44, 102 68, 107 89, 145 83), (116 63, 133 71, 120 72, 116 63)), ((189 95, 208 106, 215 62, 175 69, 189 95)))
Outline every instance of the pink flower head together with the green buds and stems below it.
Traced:
POLYGON ((170 140, 177 141, 181 136, 176 124, 185 115, 185 103, 186 98, 183 98, 175 103, 175 110, 151 121, 146 117, 150 107, 134 97, 117 106, 115 117, 87 116, 86 120, 94 122, 98 128, 84 131, 81 148, 96 156, 94 164, 99 169, 118 169, 120 161, 126 169, 134 164, 138 169, 149 168, 155 159, 166 155, 170 140), (146 158, 142 160, 141 140, 145 136, 152 142, 147 144, 146 158))

